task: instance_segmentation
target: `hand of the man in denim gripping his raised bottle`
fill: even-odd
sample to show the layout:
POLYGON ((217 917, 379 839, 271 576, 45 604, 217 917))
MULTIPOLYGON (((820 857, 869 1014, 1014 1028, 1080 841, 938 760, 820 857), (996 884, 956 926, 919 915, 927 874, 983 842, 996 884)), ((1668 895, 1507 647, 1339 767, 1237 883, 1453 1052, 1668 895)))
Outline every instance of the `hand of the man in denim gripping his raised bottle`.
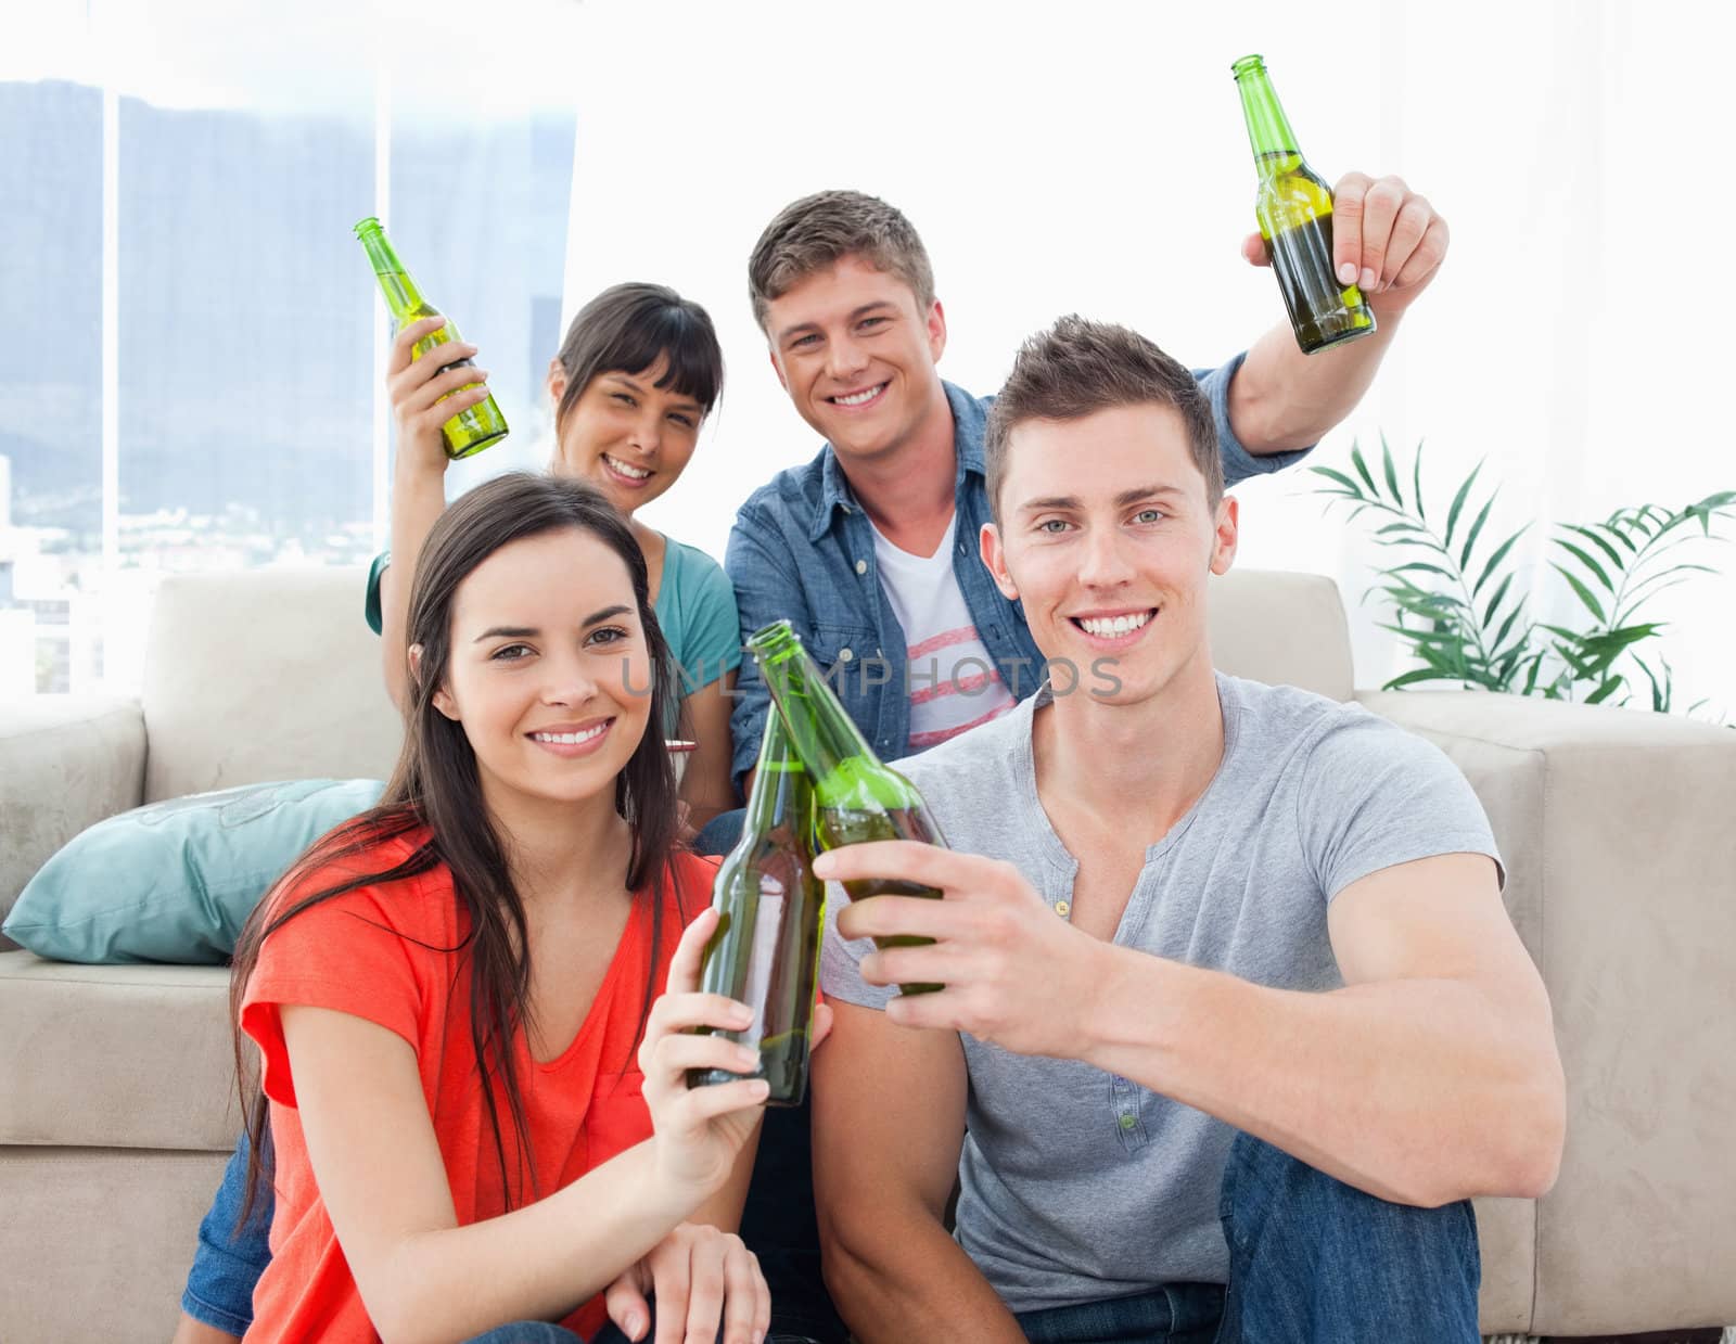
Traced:
MULTIPOLYGON (((1403 177, 1349 172, 1332 189, 1337 227, 1332 266, 1356 285, 1377 316, 1397 316, 1422 293, 1446 257, 1446 221, 1403 177)), ((1271 266, 1259 233, 1241 240, 1241 255, 1271 266)))

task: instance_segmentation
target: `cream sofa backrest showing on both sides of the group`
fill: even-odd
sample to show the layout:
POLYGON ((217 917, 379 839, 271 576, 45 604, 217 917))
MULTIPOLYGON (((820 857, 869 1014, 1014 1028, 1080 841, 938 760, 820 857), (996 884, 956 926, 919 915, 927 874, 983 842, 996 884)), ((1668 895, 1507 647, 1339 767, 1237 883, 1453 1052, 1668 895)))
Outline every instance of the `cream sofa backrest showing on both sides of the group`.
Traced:
MULTIPOLYGON (((299 778, 385 778, 399 721, 359 568, 165 578, 144 670, 146 802, 299 778)), ((1351 698, 1338 587, 1319 575, 1231 571, 1210 589, 1217 665, 1351 698)))

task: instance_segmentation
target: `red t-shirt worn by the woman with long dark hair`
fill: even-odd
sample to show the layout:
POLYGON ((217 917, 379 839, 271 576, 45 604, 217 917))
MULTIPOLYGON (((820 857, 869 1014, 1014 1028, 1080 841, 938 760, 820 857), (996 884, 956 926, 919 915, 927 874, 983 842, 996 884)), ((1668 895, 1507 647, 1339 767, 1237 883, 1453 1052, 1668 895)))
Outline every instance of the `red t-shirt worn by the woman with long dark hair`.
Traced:
MULTIPOLYGON (((276 901, 293 901, 345 873, 389 868, 425 839, 425 830, 375 846, 297 879, 276 901)), ((627 929, 604 972, 602 986, 573 1044, 561 1057, 536 1063, 523 1028, 514 1038, 514 1064, 524 1099, 531 1165, 538 1196, 571 1184, 616 1153, 651 1137, 634 1052, 644 1009, 644 986, 661 993, 668 959, 682 927, 705 908, 717 860, 679 853, 663 882, 661 929, 653 965, 651 899, 635 901, 627 929)), ((241 1030, 259 1042, 264 1089, 271 1099, 276 1150, 276 1212, 271 1222, 271 1264, 253 1288, 248 1344, 365 1344, 378 1334, 368 1320, 356 1280, 332 1231, 314 1184, 295 1110, 295 1078, 283 1049, 281 1004, 335 1009, 378 1023, 408 1040, 417 1052, 422 1094, 451 1186, 460 1224, 507 1212, 488 1110, 477 1087, 470 1044, 470 962, 458 948, 469 917, 441 865, 389 886, 361 887, 297 915, 273 932, 241 1002, 241 1030), (424 946, 425 945, 425 946, 424 946)), ((517 1141, 503 1097, 502 1143, 509 1170, 517 1169, 517 1141)), ((517 1177, 523 1179, 523 1177, 517 1177)), ((531 1200, 526 1183, 523 1207, 531 1200)), ((590 1337, 606 1320, 597 1295, 562 1325, 590 1337)))

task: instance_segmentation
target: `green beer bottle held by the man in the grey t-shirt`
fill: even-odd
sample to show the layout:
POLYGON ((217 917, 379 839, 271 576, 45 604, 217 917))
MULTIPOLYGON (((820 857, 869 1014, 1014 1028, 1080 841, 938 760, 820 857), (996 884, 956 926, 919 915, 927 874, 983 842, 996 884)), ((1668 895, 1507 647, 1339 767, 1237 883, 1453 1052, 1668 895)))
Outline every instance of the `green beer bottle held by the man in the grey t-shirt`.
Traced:
MULTIPOLYGON (((925 840, 944 846, 941 828, 929 814, 917 787, 882 764, 873 747, 851 721, 826 684, 790 622, 779 620, 757 630, 748 651, 790 733, 795 754, 814 781, 814 830, 823 849, 863 840, 925 840)), ((755 780, 755 787, 759 781, 755 780)), ((852 901, 870 896, 929 896, 941 893, 915 882, 865 879, 845 882, 852 901)), ((877 938, 882 948, 908 948, 932 938, 877 938)), ((939 985, 901 985, 904 993, 929 993, 939 985)))

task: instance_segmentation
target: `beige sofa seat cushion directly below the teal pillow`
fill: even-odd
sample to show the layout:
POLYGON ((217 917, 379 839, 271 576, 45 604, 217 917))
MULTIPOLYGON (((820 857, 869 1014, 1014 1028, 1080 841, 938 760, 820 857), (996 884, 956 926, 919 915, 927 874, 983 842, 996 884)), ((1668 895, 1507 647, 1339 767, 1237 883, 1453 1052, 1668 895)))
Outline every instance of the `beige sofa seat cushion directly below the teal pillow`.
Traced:
POLYGON ((227 967, 0 952, 0 1144, 234 1146, 227 967))

